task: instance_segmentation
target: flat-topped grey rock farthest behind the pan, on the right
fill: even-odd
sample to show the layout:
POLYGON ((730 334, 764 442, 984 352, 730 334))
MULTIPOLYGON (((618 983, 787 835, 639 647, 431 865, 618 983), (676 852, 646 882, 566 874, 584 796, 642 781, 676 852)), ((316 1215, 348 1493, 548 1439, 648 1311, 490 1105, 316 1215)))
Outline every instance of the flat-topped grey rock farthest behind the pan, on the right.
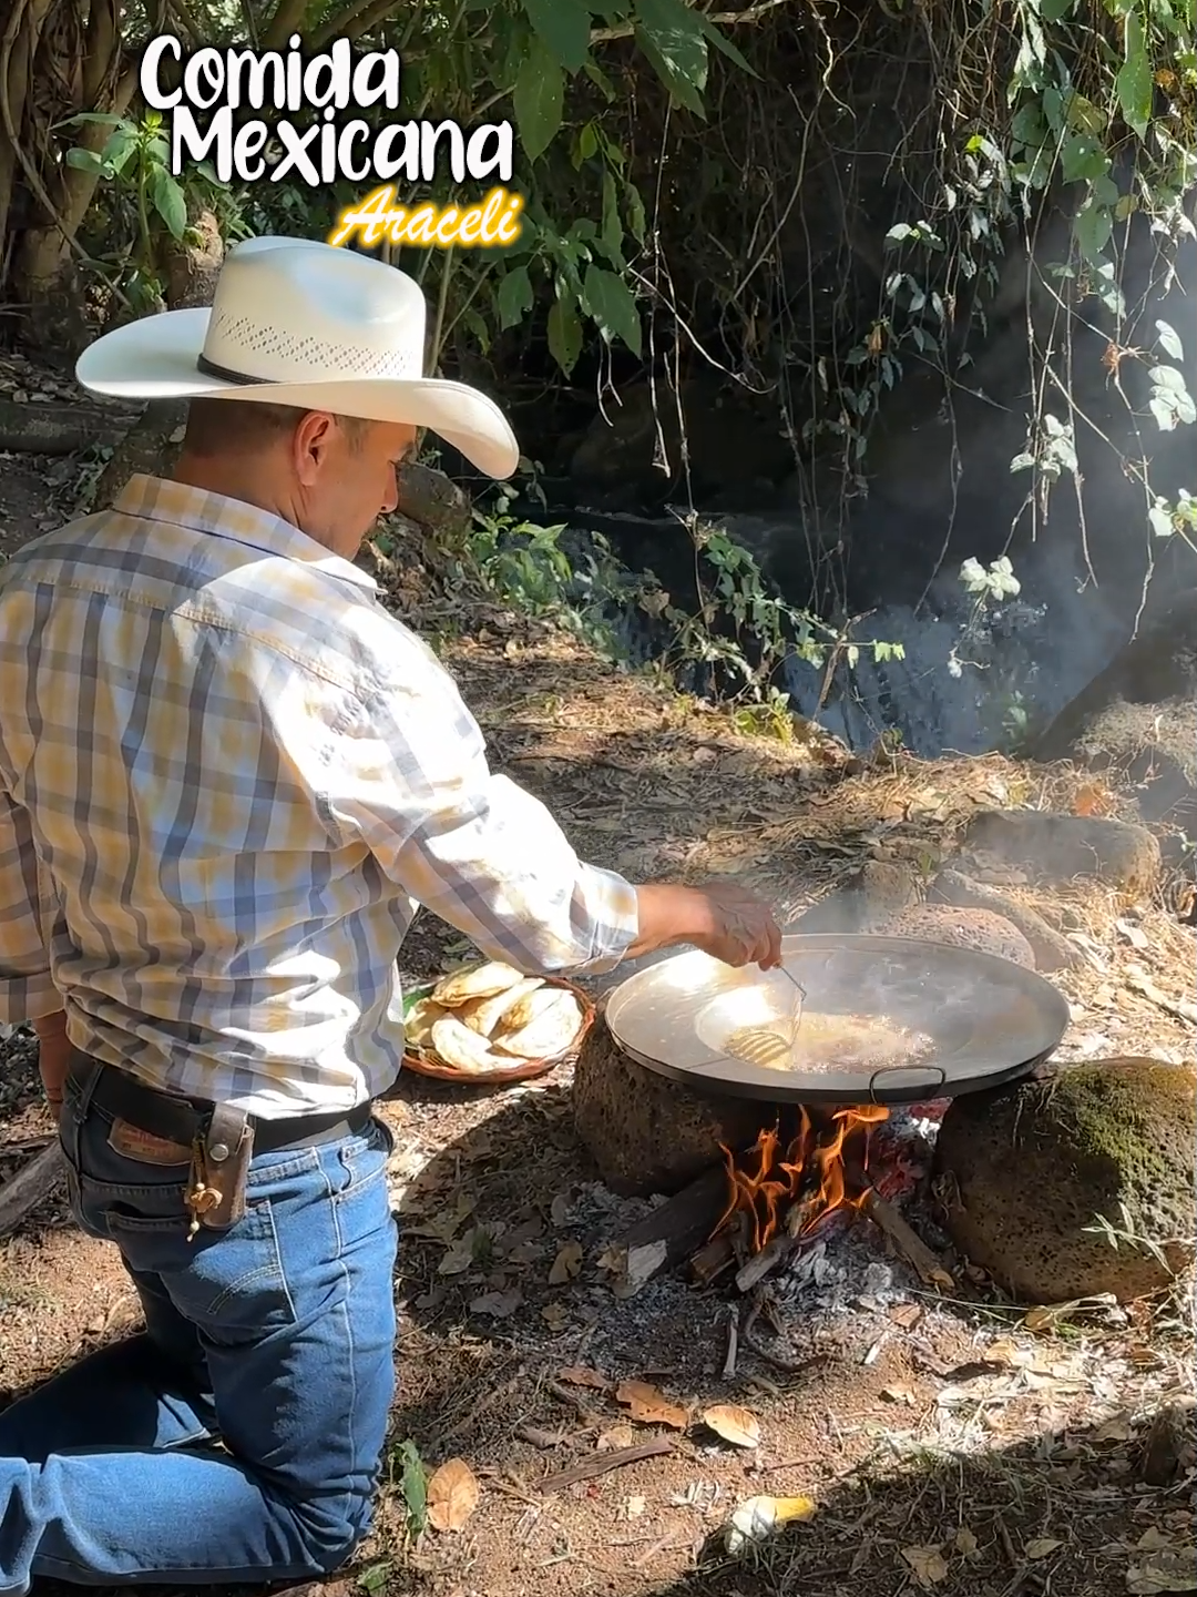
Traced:
POLYGON ((1096 878, 1130 898, 1151 893, 1160 875, 1160 845, 1152 834, 1106 816, 983 810, 969 822, 962 851, 1017 867, 1041 882, 1096 878))

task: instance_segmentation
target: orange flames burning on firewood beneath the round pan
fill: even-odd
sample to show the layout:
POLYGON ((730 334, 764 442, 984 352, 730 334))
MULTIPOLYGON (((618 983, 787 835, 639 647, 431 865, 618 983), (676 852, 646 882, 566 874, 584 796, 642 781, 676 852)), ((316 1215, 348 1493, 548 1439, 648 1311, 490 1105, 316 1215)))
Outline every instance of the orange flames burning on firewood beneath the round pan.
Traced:
POLYGON ((731 1225, 737 1214, 749 1217, 749 1246, 758 1254, 782 1225, 792 1236, 804 1236, 835 1209, 857 1207, 863 1193, 849 1193, 844 1148, 863 1131, 862 1167, 868 1169, 871 1131, 889 1119, 881 1104, 841 1108, 832 1116, 830 1129, 819 1132, 806 1110, 785 1155, 779 1158, 780 1135, 776 1127, 761 1131, 757 1142, 737 1159, 723 1148, 728 1166, 728 1204, 713 1236, 731 1225), (796 1206, 796 1207, 795 1207, 796 1206))

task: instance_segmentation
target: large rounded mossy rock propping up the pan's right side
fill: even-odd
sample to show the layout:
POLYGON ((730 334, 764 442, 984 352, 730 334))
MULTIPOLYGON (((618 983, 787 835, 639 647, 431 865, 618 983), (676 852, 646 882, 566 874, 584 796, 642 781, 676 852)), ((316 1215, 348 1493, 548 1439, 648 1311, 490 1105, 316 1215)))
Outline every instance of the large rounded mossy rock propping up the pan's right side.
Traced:
POLYGON ((1088 1060, 959 1097, 935 1153, 948 1230, 1021 1302, 1146 1297, 1192 1263, 1195 1139, 1197 1067, 1159 1059, 1088 1060), (1163 1244, 1168 1268, 1090 1231, 1098 1217, 1163 1244))

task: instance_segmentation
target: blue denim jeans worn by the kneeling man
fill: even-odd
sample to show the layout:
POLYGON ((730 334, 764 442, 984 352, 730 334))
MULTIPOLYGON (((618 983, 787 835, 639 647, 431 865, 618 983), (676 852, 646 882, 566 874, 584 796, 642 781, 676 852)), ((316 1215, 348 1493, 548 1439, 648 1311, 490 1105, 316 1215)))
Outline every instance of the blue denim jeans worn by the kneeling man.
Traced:
POLYGON ((246 1217, 188 1242, 187 1166, 112 1126, 69 1083, 72 1207, 145 1332, 0 1413, 0 1594, 329 1573, 370 1527, 394 1393, 391 1134, 257 1156, 246 1217))

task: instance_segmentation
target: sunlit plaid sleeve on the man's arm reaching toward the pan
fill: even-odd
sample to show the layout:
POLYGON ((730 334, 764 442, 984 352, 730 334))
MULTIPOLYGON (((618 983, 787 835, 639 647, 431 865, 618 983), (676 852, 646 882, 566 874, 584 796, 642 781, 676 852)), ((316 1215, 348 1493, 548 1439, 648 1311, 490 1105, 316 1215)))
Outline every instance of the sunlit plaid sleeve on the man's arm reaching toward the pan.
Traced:
POLYGON ((613 969, 638 933, 635 890, 581 861, 549 810, 490 770, 453 679, 412 663, 402 687, 343 707, 329 751, 335 824, 490 958, 538 974, 613 969))

